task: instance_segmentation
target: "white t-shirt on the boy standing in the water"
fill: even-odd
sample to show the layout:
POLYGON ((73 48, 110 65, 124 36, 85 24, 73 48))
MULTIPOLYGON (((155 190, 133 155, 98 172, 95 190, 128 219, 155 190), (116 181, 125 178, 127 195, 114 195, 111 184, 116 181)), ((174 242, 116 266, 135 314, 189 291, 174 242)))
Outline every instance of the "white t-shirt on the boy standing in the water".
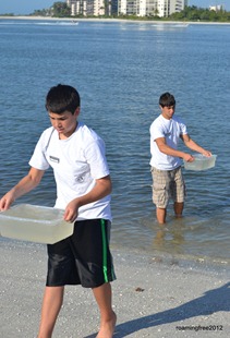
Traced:
POLYGON ((181 158, 161 153, 156 138, 165 137, 167 145, 177 149, 180 135, 184 134, 187 134, 186 125, 179 117, 173 116, 167 120, 160 114, 150 125, 150 166, 160 170, 173 170, 180 167, 181 158))

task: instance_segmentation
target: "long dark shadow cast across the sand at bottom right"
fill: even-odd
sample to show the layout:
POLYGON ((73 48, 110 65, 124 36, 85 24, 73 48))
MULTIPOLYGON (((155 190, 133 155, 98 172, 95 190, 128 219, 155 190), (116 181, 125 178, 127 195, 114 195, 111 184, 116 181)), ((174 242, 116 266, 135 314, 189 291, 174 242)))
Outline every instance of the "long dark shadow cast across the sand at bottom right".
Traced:
MULTIPOLYGON (((205 292, 204 295, 180 306, 118 324, 113 337, 123 338, 144 328, 210 315, 219 311, 230 311, 230 282, 218 289, 209 290, 205 292)), ((221 325, 221 323, 219 323, 219 325, 221 325)), ((95 338, 95 336, 96 334, 84 338, 95 338)))

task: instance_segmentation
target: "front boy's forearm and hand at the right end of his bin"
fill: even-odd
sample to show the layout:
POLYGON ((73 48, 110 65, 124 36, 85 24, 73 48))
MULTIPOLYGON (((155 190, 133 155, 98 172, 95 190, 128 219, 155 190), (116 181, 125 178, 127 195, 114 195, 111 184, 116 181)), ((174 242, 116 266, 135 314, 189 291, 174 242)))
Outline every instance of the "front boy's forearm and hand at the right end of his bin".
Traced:
POLYGON ((87 194, 71 201, 64 212, 66 221, 74 221, 78 215, 78 208, 83 205, 96 202, 109 195, 112 191, 110 176, 96 180, 95 186, 87 194))

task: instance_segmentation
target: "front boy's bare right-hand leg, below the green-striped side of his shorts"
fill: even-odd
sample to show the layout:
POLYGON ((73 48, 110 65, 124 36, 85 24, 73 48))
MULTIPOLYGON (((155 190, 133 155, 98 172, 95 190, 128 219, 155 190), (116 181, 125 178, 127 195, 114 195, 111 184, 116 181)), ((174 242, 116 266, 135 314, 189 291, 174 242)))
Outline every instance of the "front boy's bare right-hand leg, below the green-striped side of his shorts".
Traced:
POLYGON ((109 282, 92 289, 100 311, 100 330, 97 338, 112 338, 117 316, 112 310, 112 291, 109 282))

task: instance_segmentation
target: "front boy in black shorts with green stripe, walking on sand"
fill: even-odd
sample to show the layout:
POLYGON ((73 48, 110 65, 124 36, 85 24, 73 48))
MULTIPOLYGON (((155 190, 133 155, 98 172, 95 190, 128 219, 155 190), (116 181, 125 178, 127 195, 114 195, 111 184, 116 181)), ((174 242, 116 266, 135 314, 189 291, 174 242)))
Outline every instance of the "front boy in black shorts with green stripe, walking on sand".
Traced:
POLYGON ((71 237, 48 244, 48 273, 38 338, 50 338, 65 285, 92 288, 100 312, 97 338, 111 338, 116 326, 110 281, 116 279, 109 250, 111 180, 102 140, 77 121, 80 95, 68 85, 52 87, 46 98, 52 126, 41 134, 29 160, 31 170, 0 200, 7 210, 37 186, 52 167, 57 184, 55 207, 74 221, 71 237))

